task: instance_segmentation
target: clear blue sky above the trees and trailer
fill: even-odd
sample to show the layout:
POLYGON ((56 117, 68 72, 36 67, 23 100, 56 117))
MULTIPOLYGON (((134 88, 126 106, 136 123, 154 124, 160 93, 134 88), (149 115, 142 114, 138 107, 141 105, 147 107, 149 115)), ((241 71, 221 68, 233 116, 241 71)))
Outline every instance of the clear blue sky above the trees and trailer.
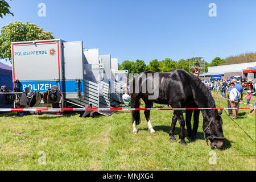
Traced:
MULTIPOLYGON (((9 1, 14 16, 0 19, 0 27, 19 20, 35 23, 65 41, 82 40, 84 48, 99 48, 124 60, 173 60, 204 56, 225 58, 256 52, 256 1, 9 1), (46 4, 46 17, 38 4, 46 4), (216 3, 217 16, 208 7, 216 3)), ((5 61, 3 61, 5 62, 5 61)))

